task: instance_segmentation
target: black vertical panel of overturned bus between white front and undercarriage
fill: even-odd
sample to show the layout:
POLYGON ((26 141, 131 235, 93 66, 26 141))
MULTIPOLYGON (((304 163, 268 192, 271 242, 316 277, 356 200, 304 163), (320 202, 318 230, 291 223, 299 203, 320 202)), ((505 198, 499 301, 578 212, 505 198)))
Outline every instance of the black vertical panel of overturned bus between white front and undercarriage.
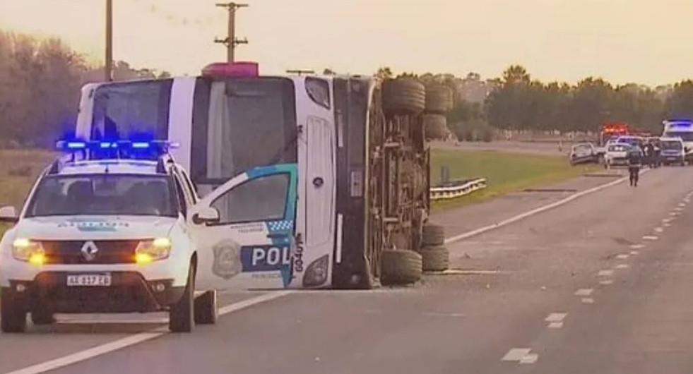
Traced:
MULTIPOLYGON (((338 287, 355 286, 353 277, 365 270, 365 134, 366 95, 351 92, 359 85, 335 78, 335 122, 337 126, 337 205, 338 237, 335 248, 333 282, 338 287)), ((360 92, 367 92, 363 86, 360 92)))

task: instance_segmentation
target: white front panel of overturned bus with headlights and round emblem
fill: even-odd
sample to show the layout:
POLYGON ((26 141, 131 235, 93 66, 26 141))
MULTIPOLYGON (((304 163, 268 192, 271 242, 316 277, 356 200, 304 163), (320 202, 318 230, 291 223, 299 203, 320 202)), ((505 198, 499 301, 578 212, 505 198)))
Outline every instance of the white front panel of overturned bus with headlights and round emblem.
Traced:
POLYGON ((299 118, 304 121, 300 153, 302 243, 292 253, 297 287, 329 286, 336 224, 336 135, 330 86, 321 78, 305 78, 297 95, 299 118), (300 281, 300 282, 299 282, 300 281))

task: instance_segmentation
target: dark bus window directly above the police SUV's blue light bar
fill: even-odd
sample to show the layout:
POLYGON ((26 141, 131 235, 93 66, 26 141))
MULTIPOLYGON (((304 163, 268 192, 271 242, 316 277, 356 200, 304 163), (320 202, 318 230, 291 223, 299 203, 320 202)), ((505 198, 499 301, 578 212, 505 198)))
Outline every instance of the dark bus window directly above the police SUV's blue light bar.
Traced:
POLYGON ((172 85, 172 79, 165 79, 99 86, 90 138, 123 139, 142 133, 166 139, 172 85))

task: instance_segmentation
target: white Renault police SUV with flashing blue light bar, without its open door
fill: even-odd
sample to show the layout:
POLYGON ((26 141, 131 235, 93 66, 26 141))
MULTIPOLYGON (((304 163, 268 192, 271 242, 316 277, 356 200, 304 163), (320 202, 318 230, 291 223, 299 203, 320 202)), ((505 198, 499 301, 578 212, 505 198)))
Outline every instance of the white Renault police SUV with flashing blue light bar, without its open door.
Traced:
POLYGON ((15 223, 0 241, 3 332, 24 332, 28 313, 42 325, 54 313, 167 310, 172 332, 216 321, 214 284, 196 279, 201 262, 223 259, 196 248, 188 213, 199 198, 171 146, 62 142, 69 154, 41 174, 21 212, 0 209, 15 223))

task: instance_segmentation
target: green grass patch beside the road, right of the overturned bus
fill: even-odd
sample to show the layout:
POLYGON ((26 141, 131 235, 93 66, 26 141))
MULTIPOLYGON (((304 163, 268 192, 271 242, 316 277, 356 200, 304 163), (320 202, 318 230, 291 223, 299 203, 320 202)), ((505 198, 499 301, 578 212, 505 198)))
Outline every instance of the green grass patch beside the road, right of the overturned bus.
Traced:
POLYGON ((450 170, 450 179, 486 178, 488 187, 470 195, 432 203, 444 210, 479 203, 525 188, 557 183, 596 171, 598 165, 571 166, 566 157, 515 154, 497 151, 432 150, 431 184, 440 181, 440 167, 450 170))

